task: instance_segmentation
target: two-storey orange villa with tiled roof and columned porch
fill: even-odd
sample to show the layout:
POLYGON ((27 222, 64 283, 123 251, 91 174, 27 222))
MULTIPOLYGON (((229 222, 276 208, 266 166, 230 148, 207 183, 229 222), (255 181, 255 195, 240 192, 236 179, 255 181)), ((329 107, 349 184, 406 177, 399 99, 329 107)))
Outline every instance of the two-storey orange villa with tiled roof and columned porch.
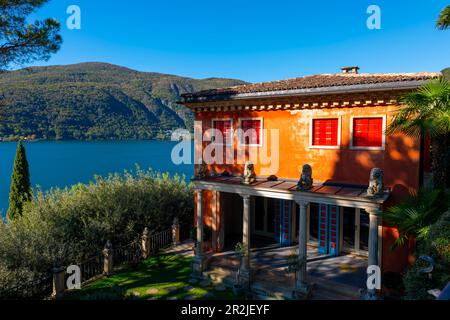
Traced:
MULTIPOLYGON (((251 280, 249 248, 261 241, 298 244, 300 261, 314 248, 365 257, 382 272, 403 270, 408 250, 390 250, 397 231, 380 213, 419 188, 427 155, 418 139, 385 129, 398 97, 439 75, 350 67, 184 94, 197 136, 195 271, 207 268, 209 254, 242 242, 241 276, 251 280), (244 172, 248 161, 255 175, 251 165, 244 172), (382 174, 370 181, 374 168, 382 174)), ((308 290, 306 263, 297 288, 308 290)))

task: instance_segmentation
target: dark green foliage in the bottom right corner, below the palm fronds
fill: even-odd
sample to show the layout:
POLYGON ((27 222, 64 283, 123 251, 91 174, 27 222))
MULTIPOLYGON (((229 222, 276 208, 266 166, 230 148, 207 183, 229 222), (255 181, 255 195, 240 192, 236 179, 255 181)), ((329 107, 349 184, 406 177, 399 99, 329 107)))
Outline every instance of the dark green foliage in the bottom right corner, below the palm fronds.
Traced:
POLYGON ((442 290, 450 281, 450 212, 430 227, 426 237, 417 244, 417 254, 428 255, 434 259, 434 270, 431 278, 421 272, 423 262, 418 260, 411 266, 403 278, 406 290, 406 299, 424 300, 433 299, 427 291, 430 289, 442 290))

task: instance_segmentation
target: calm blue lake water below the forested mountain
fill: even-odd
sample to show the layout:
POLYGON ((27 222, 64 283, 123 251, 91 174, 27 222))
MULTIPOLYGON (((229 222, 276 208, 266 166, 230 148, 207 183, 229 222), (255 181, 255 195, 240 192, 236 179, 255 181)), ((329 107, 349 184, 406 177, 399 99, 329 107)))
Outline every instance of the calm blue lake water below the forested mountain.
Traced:
MULTIPOLYGON (((31 183, 43 190, 89 182, 94 175, 152 168, 192 177, 192 165, 175 165, 171 141, 40 141, 25 143, 31 183)), ((17 143, 0 143, 0 211, 8 209, 8 193, 17 143)))

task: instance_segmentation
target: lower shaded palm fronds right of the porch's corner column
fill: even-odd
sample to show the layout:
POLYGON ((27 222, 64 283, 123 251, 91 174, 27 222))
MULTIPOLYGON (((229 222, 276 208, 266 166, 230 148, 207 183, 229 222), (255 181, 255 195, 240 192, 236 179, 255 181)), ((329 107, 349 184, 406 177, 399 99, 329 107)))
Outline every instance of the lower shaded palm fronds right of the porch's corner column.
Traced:
POLYGON ((382 214, 383 221, 397 227, 399 237, 392 249, 407 243, 410 238, 424 238, 433 225, 450 206, 449 194, 444 190, 420 189, 411 192, 399 205, 382 214))

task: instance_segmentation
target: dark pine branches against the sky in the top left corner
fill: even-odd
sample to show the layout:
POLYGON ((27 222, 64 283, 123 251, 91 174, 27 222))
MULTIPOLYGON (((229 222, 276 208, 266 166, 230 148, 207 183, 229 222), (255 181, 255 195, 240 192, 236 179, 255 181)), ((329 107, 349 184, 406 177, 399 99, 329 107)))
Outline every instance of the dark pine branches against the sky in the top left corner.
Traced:
POLYGON ((47 60, 59 50, 60 24, 54 19, 29 22, 48 0, 0 0, 0 70, 12 64, 47 60))

